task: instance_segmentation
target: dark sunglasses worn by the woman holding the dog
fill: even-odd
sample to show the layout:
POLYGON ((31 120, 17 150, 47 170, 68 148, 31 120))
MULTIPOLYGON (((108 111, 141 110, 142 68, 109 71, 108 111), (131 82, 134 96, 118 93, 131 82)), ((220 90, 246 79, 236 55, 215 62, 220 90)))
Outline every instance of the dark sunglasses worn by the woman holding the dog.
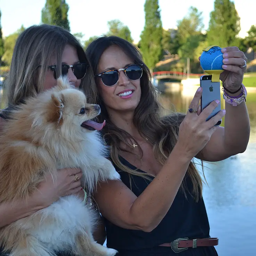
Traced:
MULTIPOLYGON (((68 69, 71 68, 76 78, 82 79, 86 74, 87 67, 88 65, 85 63, 77 63, 75 65, 70 65, 70 66, 67 64, 62 64, 61 73, 62 75, 67 75, 68 69)), ((48 66, 48 68, 50 68, 51 71, 53 71, 53 76, 55 79, 57 79, 57 65, 48 66)))

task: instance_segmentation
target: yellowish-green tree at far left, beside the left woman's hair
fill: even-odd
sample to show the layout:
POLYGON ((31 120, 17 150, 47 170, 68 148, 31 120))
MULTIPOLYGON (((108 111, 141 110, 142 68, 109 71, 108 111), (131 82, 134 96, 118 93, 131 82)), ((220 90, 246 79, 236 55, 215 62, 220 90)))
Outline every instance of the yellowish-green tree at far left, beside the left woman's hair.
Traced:
POLYGON ((22 25, 19 30, 17 30, 15 33, 8 35, 5 38, 4 42, 4 49, 5 53, 2 56, 2 61, 7 63, 8 65, 11 64, 11 58, 13 57, 13 50, 16 43, 16 40, 21 32, 25 30, 24 26, 22 25))

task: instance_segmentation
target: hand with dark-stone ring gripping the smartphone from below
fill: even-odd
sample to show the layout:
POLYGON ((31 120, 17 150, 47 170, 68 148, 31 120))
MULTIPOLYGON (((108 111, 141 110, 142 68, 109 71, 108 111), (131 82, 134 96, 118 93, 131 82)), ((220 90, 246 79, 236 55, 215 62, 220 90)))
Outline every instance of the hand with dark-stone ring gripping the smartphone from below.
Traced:
POLYGON ((206 121, 206 118, 220 104, 219 100, 212 101, 202 112, 199 101, 203 88, 199 87, 193 97, 187 115, 179 127, 179 137, 176 146, 188 157, 195 157, 201 151, 210 137, 217 129, 215 124, 225 115, 225 110, 221 110, 215 116, 206 121), (193 112, 191 111, 193 109, 193 112))

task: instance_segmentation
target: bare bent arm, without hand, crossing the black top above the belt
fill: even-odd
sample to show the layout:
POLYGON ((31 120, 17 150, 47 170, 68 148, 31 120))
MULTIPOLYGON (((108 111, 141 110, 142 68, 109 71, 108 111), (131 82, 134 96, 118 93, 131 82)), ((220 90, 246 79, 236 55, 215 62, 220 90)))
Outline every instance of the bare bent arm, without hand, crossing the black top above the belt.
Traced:
POLYGON ((139 197, 122 181, 101 183, 94 193, 101 214, 122 228, 152 231, 170 209, 190 160, 174 149, 139 197))

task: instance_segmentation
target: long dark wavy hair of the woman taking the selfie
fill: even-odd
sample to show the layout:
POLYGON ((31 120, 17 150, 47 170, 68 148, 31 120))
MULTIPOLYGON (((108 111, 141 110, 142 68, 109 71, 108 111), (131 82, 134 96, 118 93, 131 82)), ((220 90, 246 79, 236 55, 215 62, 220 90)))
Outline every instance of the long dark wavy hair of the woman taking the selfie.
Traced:
MULTIPOLYGON (((94 74, 98 73, 97 69, 102 53, 108 47, 113 45, 120 47, 126 53, 126 55, 134 61, 134 63, 143 64, 143 74, 140 79, 141 99, 139 105, 135 109, 133 122, 141 136, 148 138, 148 141, 153 146, 155 158, 157 159, 158 163, 163 165, 177 142, 179 125, 183 121, 185 115, 173 113, 169 116, 161 116, 161 105, 158 101, 157 92, 151 83, 150 70, 143 62, 139 49, 124 39, 116 36, 102 36, 89 44, 88 48, 86 49, 86 56, 88 56, 90 60, 94 74), (167 155, 165 152, 167 152, 167 155)), ((95 101, 101 107, 99 121, 102 122, 104 119, 106 119, 106 126, 102 131, 106 143, 110 146, 110 158, 112 159, 113 163, 124 172, 129 173, 130 181, 131 175, 151 179, 150 176, 152 177, 154 175, 139 172, 137 171, 138 169, 132 170, 121 163, 119 159, 119 152, 127 152, 127 150, 121 146, 122 143, 129 146, 127 144, 128 138, 133 139, 134 141, 136 140, 129 133, 119 129, 111 122, 104 102, 101 100, 97 86, 86 88, 86 92, 89 95, 92 95, 92 92, 96 92, 95 101)), ((139 149, 142 157, 141 147, 139 147, 139 149)), ((193 183, 192 194, 198 201, 199 197, 202 195, 203 182, 193 162, 189 164, 187 175, 190 177, 193 183)), ((186 179, 183 179, 180 189, 186 196, 186 179)))

